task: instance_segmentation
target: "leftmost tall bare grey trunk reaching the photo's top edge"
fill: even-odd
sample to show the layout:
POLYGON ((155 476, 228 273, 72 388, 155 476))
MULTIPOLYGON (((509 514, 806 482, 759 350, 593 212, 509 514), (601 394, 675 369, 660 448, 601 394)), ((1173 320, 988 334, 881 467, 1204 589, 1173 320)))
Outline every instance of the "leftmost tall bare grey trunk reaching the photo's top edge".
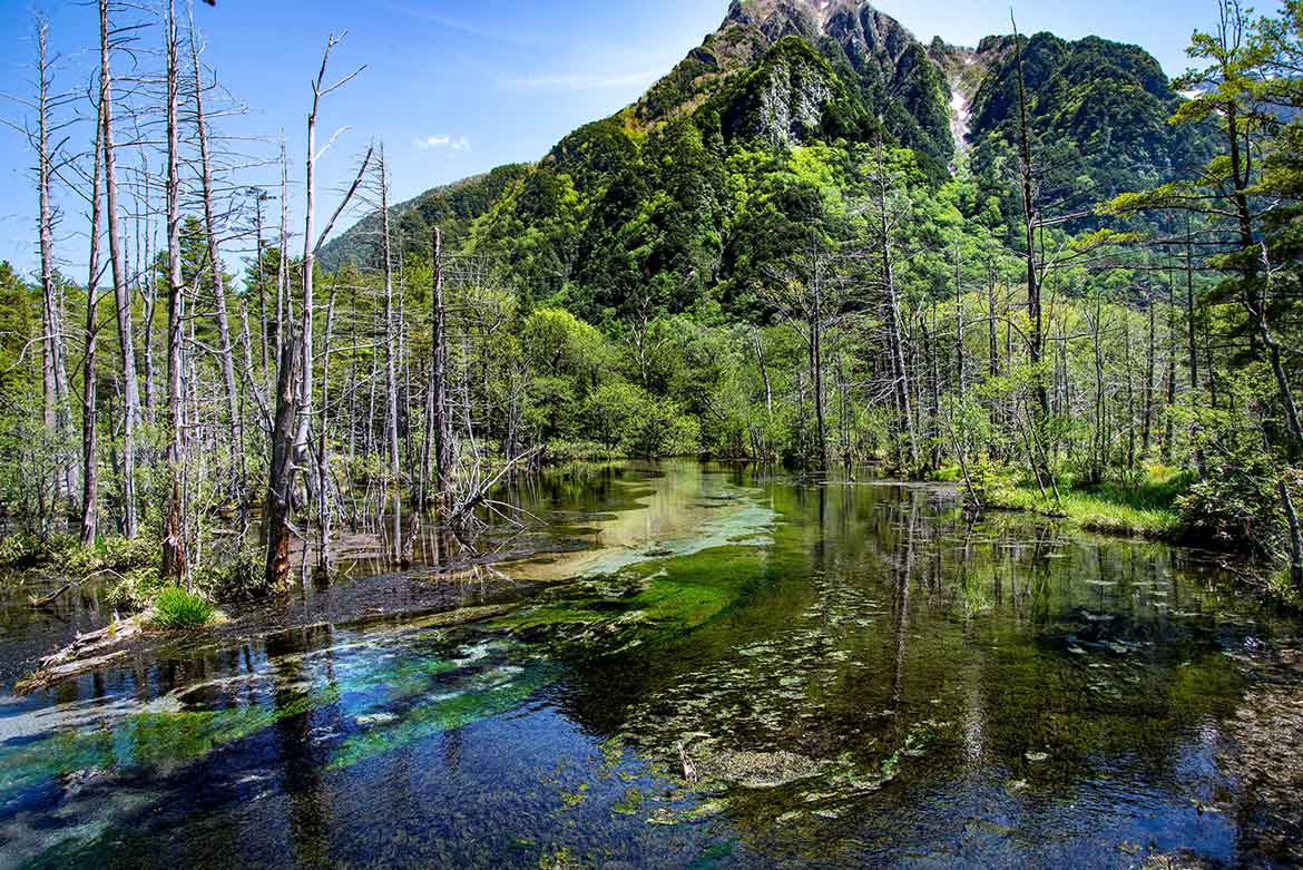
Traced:
POLYGON ((117 306, 117 337, 122 366, 122 534, 136 538, 136 426, 141 400, 136 382, 136 337, 132 324, 132 297, 122 260, 119 225, 117 161, 113 151, 113 77, 109 64, 109 0, 99 0, 99 102, 104 138, 104 193, 108 218, 108 255, 113 268, 113 303, 117 306))

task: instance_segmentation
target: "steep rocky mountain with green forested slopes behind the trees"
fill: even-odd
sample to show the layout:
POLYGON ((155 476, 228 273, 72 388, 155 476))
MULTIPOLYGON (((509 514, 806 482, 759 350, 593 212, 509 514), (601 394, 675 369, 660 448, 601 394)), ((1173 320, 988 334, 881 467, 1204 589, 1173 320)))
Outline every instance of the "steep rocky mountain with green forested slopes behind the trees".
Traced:
MULTIPOLYGON (((427 251, 440 224, 448 250, 487 255, 530 296, 593 320, 706 301, 754 314, 757 285, 826 224, 829 191, 860 184, 880 142, 908 148, 924 186, 966 167, 1012 223, 1015 46, 924 44, 853 0, 732 0, 641 99, 537 164, 396 206, 399 245, 427 251)), ((1046 198, 1164 181, 1200 154, 1197 133, 1167 125, 1182 98, 1143 49, 1050 34, 1023 47, 1046 198)), ((373 262, 377 223, 331 242, 323 263, 373 262)))

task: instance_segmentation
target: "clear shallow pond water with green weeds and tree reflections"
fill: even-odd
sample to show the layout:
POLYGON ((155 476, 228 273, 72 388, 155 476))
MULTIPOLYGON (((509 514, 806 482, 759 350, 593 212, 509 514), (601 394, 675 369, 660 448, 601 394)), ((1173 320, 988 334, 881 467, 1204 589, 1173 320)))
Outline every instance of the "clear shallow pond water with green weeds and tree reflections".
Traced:
MULTIPOLYGON (((1299 625, 1196 554, 694 464, 509 495, 556 552, 487 623, 0 697, 0 866, 1274 860, 1224 759, 1299 625)), ((69 630, 5 613, 4 654, 69 630)))

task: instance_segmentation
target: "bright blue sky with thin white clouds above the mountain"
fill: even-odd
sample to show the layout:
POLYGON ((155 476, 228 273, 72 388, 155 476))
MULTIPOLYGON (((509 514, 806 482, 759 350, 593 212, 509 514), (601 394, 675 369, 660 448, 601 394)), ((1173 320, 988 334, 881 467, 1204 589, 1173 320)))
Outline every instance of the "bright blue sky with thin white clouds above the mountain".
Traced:
MULTIPOLYGON (((249 113, 223 121, 238 137, 284 129, 291 177, 302 175, 309 79, 328 33, 348 31, 336 49, 337 74, 366 70, 332 95, 322 113, 330 135, 349 126, 322 167, 339 186, 349 160, 371 139, 386 143, 394 195, 414 197, 456 178, 542 156, 575 126, 633 102, 719 25, 727 0, 218 0, 195 18, 208 40, 206 63, 249 113)), ((1009 31, 1006 0, 882 0, 883 12, 923 39, 941 35, 975 44, 1009 31)), ((0 0, 0 94, 27 91, 23 65, 34 51, 31 16, 44 12, 64 55, 63 82, 85 79, 95 63, 95 12, 78 0, 0 0)), ((1216 0, 1023 0, 1019 26, 1078 38, 1098 34, 1153 52, 1169 73, 1184 66, 1184 46, 1205 27, 1216 0)), ((155 34, 146 34, 146 39, 155 34)), ((0 117, 21 109, 0 102, 0 117)), ((89 135, 90 130, 74 132, 89 135)), ((271 154, 272 146, 250 143, 271 154)), ((21 138, 0 129, 0 259, 35 267, 31 158, 21 138)), ((250 176, 250 181, 255 178, 250 176)), ((74 203, 68 202, 69 208, 74 203)), ((323 197, 322 210, 334 208, 323 197)), ((85 240, 69 219, 60 241, 77 271, 85 240)))

